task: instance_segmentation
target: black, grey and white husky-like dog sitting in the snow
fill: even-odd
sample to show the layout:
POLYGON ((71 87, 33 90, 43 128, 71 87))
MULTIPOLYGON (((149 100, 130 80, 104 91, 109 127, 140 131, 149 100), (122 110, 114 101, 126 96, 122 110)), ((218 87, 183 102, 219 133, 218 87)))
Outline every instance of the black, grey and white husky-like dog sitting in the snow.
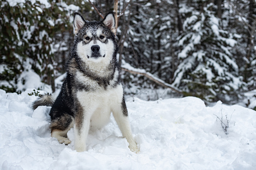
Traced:
POLYGON ((133 138, 123 86, 117 63, 114 13, 102 21, 89 22, 73 16, 74 44, 66 62, 66 78, 56 100, 43 95, 33 103, 52 106, 51 136, 59 143, 70 143, 67 132, 74 127, 74 149, 86 151, 89 129, 100 129, 110 120, 111 112, 131 151, 138 152, 133 138))

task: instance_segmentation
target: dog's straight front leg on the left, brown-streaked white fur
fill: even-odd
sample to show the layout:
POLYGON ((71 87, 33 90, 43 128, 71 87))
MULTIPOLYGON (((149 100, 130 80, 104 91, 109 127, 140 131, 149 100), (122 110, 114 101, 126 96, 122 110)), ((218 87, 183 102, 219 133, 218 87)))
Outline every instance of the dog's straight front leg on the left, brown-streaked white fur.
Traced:
POLYGON ((86 141, 90 128, 91 116, 76 117, 74 124, 74 149, 78 152, 86 151, 86 141))

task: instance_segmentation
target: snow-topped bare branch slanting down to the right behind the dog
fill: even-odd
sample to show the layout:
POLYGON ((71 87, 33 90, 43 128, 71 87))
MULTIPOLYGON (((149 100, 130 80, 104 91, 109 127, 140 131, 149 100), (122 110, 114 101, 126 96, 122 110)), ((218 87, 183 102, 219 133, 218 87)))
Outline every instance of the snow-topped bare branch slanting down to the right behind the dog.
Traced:
POLYGON ((137 69, 137 68, 134 68, 132 67, 130 64, 128 63, 125 63, 124 61, 122 61, 122 67, 121 69, 126 71, 126 72, 129 72, 129 73, 132 73, 132 74, 140 74, 140 75, 143 75, 147 78, 149 78, 150 80, 152 80, 153 82, 165 87, 165 88, 169 88, 169 89, 172 89, 178 93, 183 93, 181 90, 177 89, 176 87, 172 86, 171 84, 168 84, 166 82, 164 82, 163 80, 155 77, 154 75, 152 75, 151 73, 148 73, 146 72, 144 69, 137 69))

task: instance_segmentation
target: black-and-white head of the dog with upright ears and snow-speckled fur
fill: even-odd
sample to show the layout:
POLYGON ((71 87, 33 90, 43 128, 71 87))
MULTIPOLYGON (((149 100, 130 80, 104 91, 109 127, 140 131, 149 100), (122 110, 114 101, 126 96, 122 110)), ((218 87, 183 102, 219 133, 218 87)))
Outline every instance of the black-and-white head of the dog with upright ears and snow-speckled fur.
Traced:
POLYGON ((77 55, 82 61, 111 61, 116 53, 115 17, 109 13, 100 22, 89 22, 78 13, 74 13, 73 32, 77 55))

